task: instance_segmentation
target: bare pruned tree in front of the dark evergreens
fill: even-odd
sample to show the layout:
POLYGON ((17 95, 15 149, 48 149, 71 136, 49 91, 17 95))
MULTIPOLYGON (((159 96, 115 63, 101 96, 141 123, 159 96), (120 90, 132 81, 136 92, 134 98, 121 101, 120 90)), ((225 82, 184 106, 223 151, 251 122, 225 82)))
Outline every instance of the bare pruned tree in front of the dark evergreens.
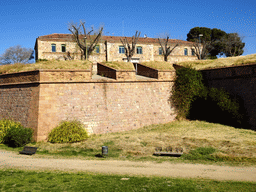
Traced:
POLYGON ((195 54, 199 60, 206 59, 209 55, 209 52, 214 49, 212 41, 205 40, 202 40, 202 42, 200 43, 198 42, 198 40, 195 40, 192 47, 194 48, 195 54))

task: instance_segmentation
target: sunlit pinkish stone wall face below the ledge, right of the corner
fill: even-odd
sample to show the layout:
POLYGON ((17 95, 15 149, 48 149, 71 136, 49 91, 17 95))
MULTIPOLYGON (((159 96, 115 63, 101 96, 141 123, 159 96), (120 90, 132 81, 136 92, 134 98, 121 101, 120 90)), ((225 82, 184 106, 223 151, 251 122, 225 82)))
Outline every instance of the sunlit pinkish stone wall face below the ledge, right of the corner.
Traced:
POLYGON ((172 81, 40 84, 38 140, 62 120, 77 119, 90 133, 126 131, 175 118, 172 81))

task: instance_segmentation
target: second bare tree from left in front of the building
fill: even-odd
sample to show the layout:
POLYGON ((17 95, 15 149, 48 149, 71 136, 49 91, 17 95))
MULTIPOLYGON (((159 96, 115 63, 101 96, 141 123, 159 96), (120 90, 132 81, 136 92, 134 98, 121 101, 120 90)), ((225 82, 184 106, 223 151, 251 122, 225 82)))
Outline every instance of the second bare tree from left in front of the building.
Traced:
POLYGON ((127 57, 127 62, 130 62, 132 56, 134 55, 135 46, 137 44, 139 37, 140 37, 140 32, 138 34, 138 31, 136 31, 135 36, 132 36, 132 45, 131 46, 127 40, 127 37, 125 37, 124 39, 120 39, 120 41, 122 42, 124 49, 125 49, 125 55, 127 57))

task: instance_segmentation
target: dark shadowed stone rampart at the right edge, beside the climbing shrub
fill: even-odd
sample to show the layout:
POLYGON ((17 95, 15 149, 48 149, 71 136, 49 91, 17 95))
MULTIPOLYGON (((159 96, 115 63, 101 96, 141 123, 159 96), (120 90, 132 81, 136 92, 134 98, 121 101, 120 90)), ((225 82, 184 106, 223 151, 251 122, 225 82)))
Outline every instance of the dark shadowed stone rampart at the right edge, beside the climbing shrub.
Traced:
POLYGON ((201 70, 208 87, 223 88, 242 99, 246 126, 256 130, 256 64, 201 70))

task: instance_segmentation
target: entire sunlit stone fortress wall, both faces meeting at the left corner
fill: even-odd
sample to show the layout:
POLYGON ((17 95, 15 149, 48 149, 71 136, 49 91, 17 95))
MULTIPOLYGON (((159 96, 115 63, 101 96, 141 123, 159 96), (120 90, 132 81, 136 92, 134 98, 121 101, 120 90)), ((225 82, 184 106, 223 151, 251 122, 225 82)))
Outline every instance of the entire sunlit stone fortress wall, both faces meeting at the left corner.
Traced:
POLYGON ((169 102, 174 71, 171 74, 161 80, 129 80, 127 74, 119 79, 92 79, 91 70, 2 74, 0 118, 33 128, 36 141, 47 140, 63 120, 77 119, 91 134, 167 123, 176 116, 169 102))

